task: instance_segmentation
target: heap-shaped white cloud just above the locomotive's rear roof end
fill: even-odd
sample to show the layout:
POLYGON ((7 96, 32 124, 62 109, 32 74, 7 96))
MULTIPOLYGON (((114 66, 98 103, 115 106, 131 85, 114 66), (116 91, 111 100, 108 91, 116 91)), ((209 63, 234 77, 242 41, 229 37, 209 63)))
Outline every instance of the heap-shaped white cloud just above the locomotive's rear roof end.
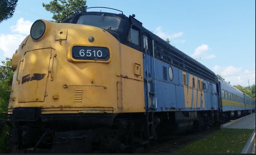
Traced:
POLYGON ((202 44, 201 46, 198 46, 195 49, 195 52, 193 54, 191 54, 191 57, 197 58, 200 57, 202 59, 212 59, 212 58, 216 58, 216 56, 214 54, 209 54, 210 47, 207 44, 202 44))

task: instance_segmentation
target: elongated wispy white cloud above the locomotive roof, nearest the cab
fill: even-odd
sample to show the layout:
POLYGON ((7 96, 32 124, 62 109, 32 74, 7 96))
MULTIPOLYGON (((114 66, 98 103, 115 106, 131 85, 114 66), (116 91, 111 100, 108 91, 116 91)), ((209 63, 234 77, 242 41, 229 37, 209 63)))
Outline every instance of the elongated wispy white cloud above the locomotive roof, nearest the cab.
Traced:
MULTIPOLYGON (((166 38, 173 39, 173 38, 181 37, 183 35, 183 32, 163 32, 161 26, 158 26, 155 29, 154 33, 164 40, 166 38)), ((183 42, 185 42, 185 40, 183 40, 183 42)))

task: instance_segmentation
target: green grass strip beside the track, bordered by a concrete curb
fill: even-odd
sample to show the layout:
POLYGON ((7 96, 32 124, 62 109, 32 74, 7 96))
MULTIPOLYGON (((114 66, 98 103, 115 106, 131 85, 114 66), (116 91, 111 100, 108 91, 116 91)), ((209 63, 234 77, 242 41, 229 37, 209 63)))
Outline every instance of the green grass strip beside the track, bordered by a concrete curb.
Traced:
POLYGON ((254 129, 220 129, 174 153, 241 153, 254 129))

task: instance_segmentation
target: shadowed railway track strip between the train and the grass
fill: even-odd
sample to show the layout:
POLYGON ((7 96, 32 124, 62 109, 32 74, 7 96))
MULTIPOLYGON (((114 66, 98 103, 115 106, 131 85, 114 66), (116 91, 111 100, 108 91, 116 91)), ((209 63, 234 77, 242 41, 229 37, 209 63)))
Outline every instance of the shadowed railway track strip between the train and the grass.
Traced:
POLYGON ((211 127, 207 130, 202 130, 196 133, 186 135, 174 135, 168 137, 161 137, 158 141, 151 145, 149 148, 145 148, 140 153, 173 153, 181 147, 184 147, 195 140, 201 139, 210 135, 211 133, 219 130, 219 127, 211 127))

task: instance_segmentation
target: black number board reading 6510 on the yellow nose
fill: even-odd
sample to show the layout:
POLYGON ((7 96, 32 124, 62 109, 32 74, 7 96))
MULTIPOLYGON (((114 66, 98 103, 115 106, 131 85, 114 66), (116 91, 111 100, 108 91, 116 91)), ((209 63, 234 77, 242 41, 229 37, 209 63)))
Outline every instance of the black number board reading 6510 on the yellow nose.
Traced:
POLYGON ((72 47, 72 57, 74 59, 108 60, 109 50, 106 47, 74 46, 72 47))

